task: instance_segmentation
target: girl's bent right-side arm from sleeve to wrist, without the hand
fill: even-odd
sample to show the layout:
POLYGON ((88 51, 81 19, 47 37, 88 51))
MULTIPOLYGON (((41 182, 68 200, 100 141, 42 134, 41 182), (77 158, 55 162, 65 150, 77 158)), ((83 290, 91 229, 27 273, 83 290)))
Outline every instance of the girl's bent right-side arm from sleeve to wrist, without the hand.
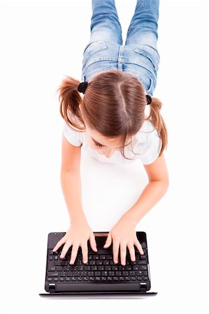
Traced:
POLYGON ((134 226, 150 211, 168 190, 168 170, 164 156, 159 156, 154 163, 144 165, 149 178, 149 183, 145 186, 143 193, 122 217, 130 220, 134 226))

